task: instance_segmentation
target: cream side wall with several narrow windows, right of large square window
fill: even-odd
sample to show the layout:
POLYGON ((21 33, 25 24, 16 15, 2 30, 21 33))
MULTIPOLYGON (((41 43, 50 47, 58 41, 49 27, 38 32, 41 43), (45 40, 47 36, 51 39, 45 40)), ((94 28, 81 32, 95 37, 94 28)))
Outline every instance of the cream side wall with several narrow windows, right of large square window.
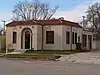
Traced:
MULTIPOLYGON (((82 29, 81 28, 77 28, 77 27, 72 27, 71 26, 67 26, 67 25, 63 25, 63 35, 62 35, 62 40, 63 40, 63 49, 64 50, 75 50, 76 49, 76 44, 72 44, 72 32, 77 33, 77 42, 78 42, 78 36, 80 36, 80 42, 81 42, 81 32, 82 29), (66 31, 70 32, 70 44, 66 44, 66 31)), ((74 35, 75 36, 75 35, 74 35)), ((75 38, 74 38, 74 42, 75 42, 75 38)))

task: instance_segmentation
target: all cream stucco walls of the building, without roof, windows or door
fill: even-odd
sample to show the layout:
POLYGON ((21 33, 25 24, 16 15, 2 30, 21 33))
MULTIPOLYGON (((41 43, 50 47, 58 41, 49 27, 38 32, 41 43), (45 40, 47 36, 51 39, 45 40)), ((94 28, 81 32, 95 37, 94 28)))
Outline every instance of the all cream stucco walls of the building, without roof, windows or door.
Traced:
MULTIPOLYGON (((6 47, 9 44, 11 44, 12 48, 16 50, 21 49, 21 32, 26 27, 32 30, 32 48, 34 48, 34 50, 41 50, 42 49, 42 26, 41 25, 7 27, 6 47), (13 31, 17 32, 17 43, 16 44, 12 43, 13 31)), ((78 36, 80 36, 80 43, 82 43, 82 34, 92 35, 91 32, 82 31, 82 28, 77 28, 77 27, 71 28, 71 26, 67 26, 67 25, 43 26, 43 34, 44 34, 43 35, 43 49, 44 50, 71 50, 71 49, 75 50, 76 44, 72 44, 72 33, 71 32, 77 33, 77 42, 78 42, 78 36), (46 44, 46 31, 54 31, 54 44, 46 44), (66 31, 70 32, 70 44, 66 44, 66 31)), ((75 38, 74 38, 74 42, 75 42, 75 38)), ((88 47, 88 44, 87 44, 87 47, 88 47)))

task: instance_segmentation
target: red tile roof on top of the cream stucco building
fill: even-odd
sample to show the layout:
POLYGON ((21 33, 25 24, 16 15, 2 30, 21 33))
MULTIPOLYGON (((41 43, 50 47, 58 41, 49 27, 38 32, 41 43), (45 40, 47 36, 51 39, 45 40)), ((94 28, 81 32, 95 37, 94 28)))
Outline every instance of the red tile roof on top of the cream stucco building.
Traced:
POLYGON ((8 23, 6 26, 18 26, 18 25, 69 25, 73 27, 82 28, 78 23, 67 21, 67 20, 30 20, 30 21, 12 21, 8 23))

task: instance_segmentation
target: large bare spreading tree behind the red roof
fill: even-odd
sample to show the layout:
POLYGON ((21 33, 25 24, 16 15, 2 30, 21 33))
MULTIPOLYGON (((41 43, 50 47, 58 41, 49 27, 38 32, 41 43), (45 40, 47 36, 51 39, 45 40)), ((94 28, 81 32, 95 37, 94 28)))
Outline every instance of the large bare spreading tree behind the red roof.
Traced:
POLYGON ((49 4, 42 3, 39 0, 31 2, 22 1, 14 6, 13 20, 47 20, 57 11, 58 6, 51 8, 49 4))

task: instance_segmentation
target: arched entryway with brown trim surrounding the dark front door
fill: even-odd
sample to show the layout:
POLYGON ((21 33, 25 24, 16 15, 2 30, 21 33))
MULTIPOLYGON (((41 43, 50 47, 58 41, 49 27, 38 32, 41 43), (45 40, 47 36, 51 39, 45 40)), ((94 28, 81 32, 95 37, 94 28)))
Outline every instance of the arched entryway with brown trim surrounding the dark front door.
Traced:
POLYGON ((21 33, 21 48, 32 49, 32 31, 30 28, 24 28, 21 33))

